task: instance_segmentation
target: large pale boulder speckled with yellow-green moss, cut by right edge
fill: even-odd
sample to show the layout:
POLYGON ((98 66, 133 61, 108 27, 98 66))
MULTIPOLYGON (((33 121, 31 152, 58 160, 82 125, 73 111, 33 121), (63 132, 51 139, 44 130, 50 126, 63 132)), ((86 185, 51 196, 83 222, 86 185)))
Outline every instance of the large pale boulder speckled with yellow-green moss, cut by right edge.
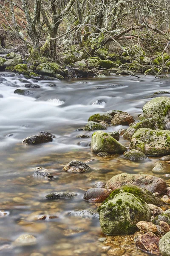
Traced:
POLYGON ((149 156, 170 154, 170 131, 140 128, 132 136, 130 149, 149 156))

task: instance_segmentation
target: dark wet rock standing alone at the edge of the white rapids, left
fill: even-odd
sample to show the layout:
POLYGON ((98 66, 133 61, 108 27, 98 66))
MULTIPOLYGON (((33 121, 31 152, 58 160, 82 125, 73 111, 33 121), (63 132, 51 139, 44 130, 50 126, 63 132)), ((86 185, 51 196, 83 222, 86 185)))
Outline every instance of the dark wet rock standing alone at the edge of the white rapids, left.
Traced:
POLYGON ((23 140, 23 143, 27 145, 37 145, 40 143, 47 143, 53 141, 53 138, 47 134, 37 134, 27 137, 23 140))

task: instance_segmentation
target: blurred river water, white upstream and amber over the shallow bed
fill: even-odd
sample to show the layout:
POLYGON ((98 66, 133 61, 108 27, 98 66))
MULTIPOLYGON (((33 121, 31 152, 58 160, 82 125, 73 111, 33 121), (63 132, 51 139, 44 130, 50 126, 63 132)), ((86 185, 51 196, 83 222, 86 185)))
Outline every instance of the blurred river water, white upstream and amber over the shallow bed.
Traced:
MULTIPOLYGON (((141 77, 34 81, 14 73, 0 73, 0 210, 8 213, 0 218, 0 255, 104 256, 102 246, 121 247, 123 237, 119 241, 108 237, 106 244, 98 240, 107 237, 101 232, 98 219, 78 218, 67 213, 99 207, 99 204, 83 201, 85 191, 96 181, 106 182, 123 172, 152 174, 156 159, 133 163, 118 155, 100 158, 91 154, 91 139, 76 138, 79 134, 93 132, 76 129, 84 128, 92 114, 111 109, 127 111, 137 121, 142 106, 154 92, 170 92, 169 79, 141 77), (29 96, 14 94, 17 88, 26 89, 24 86, 28 82, 40 88, 27 88, 32 92, 29 96), (50 87, 51 83, 55 86, 50 87), (53 142, 34 146, 22 143, 25 137, 40 131, 54 134, 53 142), (93 161, 88 162, 90 159, 93 161), (93 169, 80 174, 63 172, 62 168, 71 160, 88 162, 93 169), (49 169, 54 179, 32 177, 38 166, 49 169), (44 200, 46 194, 57 191, 78 195, 65 201, 44 200), (38 215, 45 214, 57 218, 36 220, 38 215), (22 234, 35 236, 37 244, 15 247, 13 241, 22 234)), ((120 128, 126 126, 111 126, 108 131, 120 128)), ((122 136, 120 142, 129 146, 129 141, 122 136)), ((122 248, 125 256, 146 255, 135 249, 133 239, 125 242, 122 248)))

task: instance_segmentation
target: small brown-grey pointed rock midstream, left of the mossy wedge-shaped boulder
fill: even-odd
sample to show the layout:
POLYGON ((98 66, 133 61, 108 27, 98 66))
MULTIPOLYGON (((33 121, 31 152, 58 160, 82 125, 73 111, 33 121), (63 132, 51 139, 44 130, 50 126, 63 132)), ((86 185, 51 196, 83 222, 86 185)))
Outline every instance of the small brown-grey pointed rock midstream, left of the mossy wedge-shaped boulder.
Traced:
POLYGON ((90 167, 81 161, 72 160, 62 170, 65 172, 88 172, 90 167))

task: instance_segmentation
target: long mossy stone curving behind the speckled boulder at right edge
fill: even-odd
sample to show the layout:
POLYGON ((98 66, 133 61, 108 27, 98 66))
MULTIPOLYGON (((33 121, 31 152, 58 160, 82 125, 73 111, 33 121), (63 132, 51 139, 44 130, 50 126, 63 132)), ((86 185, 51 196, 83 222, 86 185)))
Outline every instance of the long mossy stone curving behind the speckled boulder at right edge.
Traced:
POLYGON ((140 128, 150 128, 152 130, 164 129, 164 123, 159 118, 146 118, 141 122, 130 125, 123 134, 123 137, 127 140, 131 140, 133 134, 140 128))

